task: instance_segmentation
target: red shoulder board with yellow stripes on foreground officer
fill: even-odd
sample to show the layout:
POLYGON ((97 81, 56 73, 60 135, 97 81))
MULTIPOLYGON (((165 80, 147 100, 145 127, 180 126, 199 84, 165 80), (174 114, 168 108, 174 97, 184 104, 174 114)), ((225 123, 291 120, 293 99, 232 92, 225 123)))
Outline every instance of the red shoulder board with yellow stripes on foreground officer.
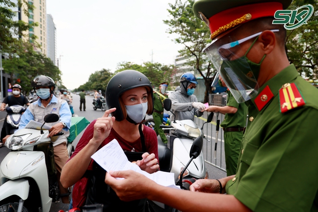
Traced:
POLYGON ((306 104, 295 83, 286 83, 279 89, 280 112, 285 113, 306 104))

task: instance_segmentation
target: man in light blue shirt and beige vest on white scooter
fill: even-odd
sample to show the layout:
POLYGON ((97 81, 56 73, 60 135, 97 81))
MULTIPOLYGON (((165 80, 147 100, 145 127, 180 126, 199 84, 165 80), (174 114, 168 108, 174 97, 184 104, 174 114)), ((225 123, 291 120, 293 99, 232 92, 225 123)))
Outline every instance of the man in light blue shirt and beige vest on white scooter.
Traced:
MULTIPOLYGON (((69 159, 66 143, 67 138, 70 135, 69 129, 71 127, 72 114, 70 107, 65 100, 58 99, 53 95, 55 82, 51 77, 38 75, 31 81, 31 86, 39 99, 30 104, 27 110, 23 113, 19 129, 25 128, 31 120, 44 123, 44 116, 50 113, 55 113, 60 116, 60 120, 58 122, 46 123, 46 125, 52 127, 48 137, 52 137, 61 131, 64 132, 63 136, 60 136, 53 142, 55 166, 58 171, 57 178, 58 181, 60 181, 62 168, 69 159)), ((62 202, 69 203, 68 189, 64 188, 60 182, 59 187, 62 195, 62 202)))

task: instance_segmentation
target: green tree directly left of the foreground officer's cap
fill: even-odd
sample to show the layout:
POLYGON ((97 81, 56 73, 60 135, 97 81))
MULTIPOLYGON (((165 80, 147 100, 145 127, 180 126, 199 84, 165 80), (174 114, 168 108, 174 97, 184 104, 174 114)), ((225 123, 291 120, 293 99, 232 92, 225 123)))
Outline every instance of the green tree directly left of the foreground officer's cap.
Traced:
POLYGON ((194 70, 203 77, 206 86, 204 101, 207 102, 211 85, 210 75, 213 74, 214 69, 202 50, 211 42, 210 30, 194 15, 193 4, 194 0, 187 0, 184 3, 176 0, 174 4, 169 3, 170 9, 167 10, 171 19, 163 20, 163 23, 170 27, 167 33, 178 35, 174 42, 184 45, 184 48, 179 50, 179 56, 190 58, 186 65, 194 67, 194 70))

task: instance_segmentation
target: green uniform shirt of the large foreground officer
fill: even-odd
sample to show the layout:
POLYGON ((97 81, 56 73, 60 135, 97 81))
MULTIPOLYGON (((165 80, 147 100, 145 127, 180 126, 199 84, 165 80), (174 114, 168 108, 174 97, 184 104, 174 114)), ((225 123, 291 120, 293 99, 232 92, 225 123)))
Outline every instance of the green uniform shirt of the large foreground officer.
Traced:
POLYGON ((252 211, 318 211, 318 89, 290 65, 246 103, 238 171, 226 192, 252 211))

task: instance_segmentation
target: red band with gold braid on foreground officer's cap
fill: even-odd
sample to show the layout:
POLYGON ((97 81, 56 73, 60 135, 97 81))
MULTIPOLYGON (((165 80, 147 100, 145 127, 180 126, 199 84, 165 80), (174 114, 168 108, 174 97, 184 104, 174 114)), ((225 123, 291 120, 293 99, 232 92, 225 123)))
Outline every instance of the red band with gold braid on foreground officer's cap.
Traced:
MULTIPOLYGON (((250 21, 256 18, 274 16, 277 10, 282 10, 283 5, 280 2, 262 2, 246 4, 233 7, 219 12, 209 18, 209 28, 214 37, 225 32, 226 30, 239 25, 242 22, 250 21), (239 21, 243 16, 244 20, 239 21)), ((212 39, 213 39, 212 38, 212 39)))

